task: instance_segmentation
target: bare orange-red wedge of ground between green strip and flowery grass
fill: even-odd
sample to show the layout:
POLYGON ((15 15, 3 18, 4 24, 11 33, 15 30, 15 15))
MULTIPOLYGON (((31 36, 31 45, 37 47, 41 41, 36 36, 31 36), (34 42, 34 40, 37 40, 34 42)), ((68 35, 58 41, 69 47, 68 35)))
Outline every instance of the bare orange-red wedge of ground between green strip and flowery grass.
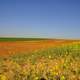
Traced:
POLYGON ((59 46, 72 43, 69 40, 41 40, 41 41, 15 41, 0 42, 0 56, 12 55, 16 53, 27 53, 38 49, 59 46))

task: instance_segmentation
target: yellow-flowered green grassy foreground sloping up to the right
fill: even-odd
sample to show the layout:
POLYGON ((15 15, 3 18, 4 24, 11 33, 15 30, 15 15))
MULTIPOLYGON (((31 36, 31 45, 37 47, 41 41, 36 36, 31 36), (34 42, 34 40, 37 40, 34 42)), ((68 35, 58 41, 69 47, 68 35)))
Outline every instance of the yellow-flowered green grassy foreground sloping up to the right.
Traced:
POLYGON ((80 43, 1 57, 0 80, 80 80, 80 43))

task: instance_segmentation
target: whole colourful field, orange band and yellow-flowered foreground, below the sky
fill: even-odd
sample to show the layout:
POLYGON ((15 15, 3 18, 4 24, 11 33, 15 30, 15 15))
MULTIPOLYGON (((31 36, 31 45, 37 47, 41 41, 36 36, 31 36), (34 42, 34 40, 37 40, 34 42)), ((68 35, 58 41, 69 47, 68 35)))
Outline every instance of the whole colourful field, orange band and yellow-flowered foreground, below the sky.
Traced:
POLYGON ((0 41, 0 80, 80 80, 80 41, 0 41))

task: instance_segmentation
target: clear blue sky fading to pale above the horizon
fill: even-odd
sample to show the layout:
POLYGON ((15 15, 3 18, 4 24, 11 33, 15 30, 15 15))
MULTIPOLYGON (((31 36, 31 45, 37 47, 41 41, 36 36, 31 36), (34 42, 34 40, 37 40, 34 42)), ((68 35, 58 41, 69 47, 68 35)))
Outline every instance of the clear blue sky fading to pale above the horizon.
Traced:
POLYGON ((0 0, 0 36, 80 39, 80 0, 0 0))

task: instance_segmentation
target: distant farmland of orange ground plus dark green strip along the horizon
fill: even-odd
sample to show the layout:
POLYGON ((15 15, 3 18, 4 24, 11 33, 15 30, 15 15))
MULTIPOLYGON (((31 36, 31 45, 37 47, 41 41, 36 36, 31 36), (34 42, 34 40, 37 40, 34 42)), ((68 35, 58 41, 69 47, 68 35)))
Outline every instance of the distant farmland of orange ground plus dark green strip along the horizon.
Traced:
MULTIPOLYGON (((41 39, 41 38, 0 38, 0 55, 27 53, 34 50, 72 43, 73 40, 41 39)), ((76 42, 76 41, 75 41, 76 42)))

